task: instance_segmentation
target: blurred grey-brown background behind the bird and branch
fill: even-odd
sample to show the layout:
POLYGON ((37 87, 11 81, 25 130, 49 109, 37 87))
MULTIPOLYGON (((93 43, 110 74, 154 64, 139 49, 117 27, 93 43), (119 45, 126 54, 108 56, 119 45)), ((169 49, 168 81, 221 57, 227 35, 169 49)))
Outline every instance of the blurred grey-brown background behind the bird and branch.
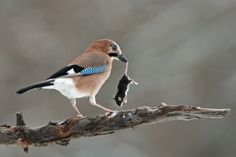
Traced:
MULTIPOLYGON (((174 121, 113 135, 73 140, 68 147, 0 146, 0 157, 235 157, 235 0, 1 0, 0 123, 24 112, 31 127, 75 115, 55 91, 15 91, 41 81, 94 40, 117 41, 129 58, 131 87, 124 109, 186 104, 231 108, 222 120, 174 121)), ((115 62, 97 100, 111 99, 124 65, 115 62)), ((79 100, 85 115, 103 111, 79 100)))

